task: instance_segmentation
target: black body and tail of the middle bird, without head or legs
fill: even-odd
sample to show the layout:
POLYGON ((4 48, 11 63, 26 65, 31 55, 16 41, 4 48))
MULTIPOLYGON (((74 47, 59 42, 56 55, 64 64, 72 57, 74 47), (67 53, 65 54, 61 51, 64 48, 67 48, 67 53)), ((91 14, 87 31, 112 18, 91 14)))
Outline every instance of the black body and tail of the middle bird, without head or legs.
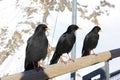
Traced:
POLYGON ((69 53, 75 43, 75 36, 64 33, 58 40, 55 53, 51 59, 50 64, 57 63, 60 56, 64 53, 69 53))

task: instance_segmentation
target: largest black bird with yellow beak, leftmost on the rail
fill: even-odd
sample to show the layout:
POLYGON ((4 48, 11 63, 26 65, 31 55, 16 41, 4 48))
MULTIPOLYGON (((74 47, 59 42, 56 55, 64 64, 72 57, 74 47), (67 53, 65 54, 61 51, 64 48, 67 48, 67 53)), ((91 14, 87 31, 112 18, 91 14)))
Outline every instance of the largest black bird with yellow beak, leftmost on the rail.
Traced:
POLYGON ((38 62, 44 60, 47 56, 48 39, 45 32, 48 29, 45 24, 39 24, 34 34, 28 39, 24 65, 25 71, 42 68, 38 62))

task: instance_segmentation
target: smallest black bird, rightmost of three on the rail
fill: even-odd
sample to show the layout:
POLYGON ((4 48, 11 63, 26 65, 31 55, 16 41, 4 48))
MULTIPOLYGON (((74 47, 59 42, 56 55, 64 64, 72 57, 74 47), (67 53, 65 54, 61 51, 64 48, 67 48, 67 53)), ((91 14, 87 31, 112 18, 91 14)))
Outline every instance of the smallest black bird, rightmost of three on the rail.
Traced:
POLYGON ((83 48, 82 48, 82 57, 90 54, 95 54, 93 49, 96 48, 99 40, 98 32, 101 31, 99 26, 95 26, 85 37, 83 48))

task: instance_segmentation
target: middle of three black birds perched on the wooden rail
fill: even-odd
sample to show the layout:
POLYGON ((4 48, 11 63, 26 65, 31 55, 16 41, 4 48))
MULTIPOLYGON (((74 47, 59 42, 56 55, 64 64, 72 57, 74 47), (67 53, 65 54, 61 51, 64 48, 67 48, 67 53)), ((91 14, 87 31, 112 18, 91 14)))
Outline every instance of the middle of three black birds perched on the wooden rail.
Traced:
MULTIPOLYGON (((69 54, 71 51, 75 41, 76 41, 76 36, 75 36, 75 31, 79 28, 77 25, 70 25, 65 33, 61 35, 61 37, 58 40, 56 50, 53 54, 53 57, 50 61, 50 64, 55 64, 58 62, 60 56, 64 53, 69 54)), ((62 62, 65 62, 62 57, 61 57, 62 62)), ((69 56, 69 60, 72 60, 69 56)))

